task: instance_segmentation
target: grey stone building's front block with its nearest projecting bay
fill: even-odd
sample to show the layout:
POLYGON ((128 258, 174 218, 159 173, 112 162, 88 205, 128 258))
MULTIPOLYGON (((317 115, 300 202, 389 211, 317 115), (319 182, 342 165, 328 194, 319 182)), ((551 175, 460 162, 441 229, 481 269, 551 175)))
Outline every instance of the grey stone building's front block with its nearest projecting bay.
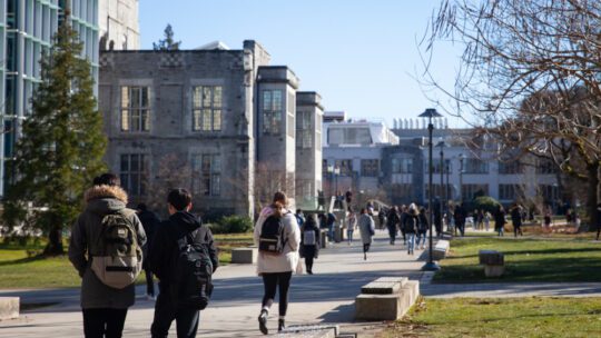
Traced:
POLYGON ((107 162, 132 202, 162 208, 175 186, 190 188, 207 218, 253 215, 277 189, 294 201, 298 78, 269 59, 255 41, 101 53, 107 162))

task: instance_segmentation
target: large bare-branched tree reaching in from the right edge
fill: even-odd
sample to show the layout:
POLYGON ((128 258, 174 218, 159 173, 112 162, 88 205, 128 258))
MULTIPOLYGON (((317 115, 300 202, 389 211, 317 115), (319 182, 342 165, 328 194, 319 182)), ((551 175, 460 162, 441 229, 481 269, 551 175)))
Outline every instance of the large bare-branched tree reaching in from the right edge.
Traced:
MULTIPOLYGON (((514 153, 553 160, 587 180, 595 222, 601 156, 601 2, 444 0, 423 41, 463 48, 449 113, 492 133, 514 153), (578 162, 578 163, 577 163, 578 162)), ((427 60, 427 59, 426 59, 427 60)))

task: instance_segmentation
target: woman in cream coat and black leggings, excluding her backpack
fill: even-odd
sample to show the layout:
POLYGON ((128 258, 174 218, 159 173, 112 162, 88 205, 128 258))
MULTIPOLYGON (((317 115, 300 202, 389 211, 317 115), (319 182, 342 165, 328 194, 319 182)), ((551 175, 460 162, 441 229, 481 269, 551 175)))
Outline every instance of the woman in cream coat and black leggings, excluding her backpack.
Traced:
POLYGON ((273 255, 268 252, 259 251, 257 260, 257 274, 263 277, 263 286, 265 294, 263 296, 260 315, 258 317, 259 330, 264 334, 268 334, 267 329, 267 316, 269 308, 272 307, 276 294, 276 289, 279 286, 279 319, 278 331, 285 327, 286 311, 288 308, 288 289, 290 287, 290 279, 293 271, 298 266, 298 247, 300 243, 300 230, 296 223, 296 218, 287 209, 288 200, 284 192, 276 192, 274 196, 274 202, 260 211, 257 223, 255 225, 255 243, 259 245, 259 238, 263 229, 263 225, 270 216, 282 218, 284 226, 284 248, 282 254, 273 255))

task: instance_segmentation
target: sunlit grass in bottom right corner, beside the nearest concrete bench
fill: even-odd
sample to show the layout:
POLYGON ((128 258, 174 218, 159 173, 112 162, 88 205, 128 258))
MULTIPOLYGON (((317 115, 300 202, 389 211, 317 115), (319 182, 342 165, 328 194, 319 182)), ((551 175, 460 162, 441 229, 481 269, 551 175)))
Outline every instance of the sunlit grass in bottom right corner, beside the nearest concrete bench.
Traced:
POLYGON ((421 299, 392 337, 598 337, 601 298, 421 299))

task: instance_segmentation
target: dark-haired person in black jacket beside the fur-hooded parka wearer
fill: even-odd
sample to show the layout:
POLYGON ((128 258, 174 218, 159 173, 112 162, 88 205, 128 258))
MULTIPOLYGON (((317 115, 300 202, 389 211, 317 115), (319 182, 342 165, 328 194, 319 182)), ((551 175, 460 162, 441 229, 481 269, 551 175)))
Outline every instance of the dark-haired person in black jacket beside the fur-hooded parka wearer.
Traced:
POLYGON ((167 337, 174 319, 178 338, 196 337, 199 312, 213 292, 217 249, 210 229, 190 213, 191 199, 184 188, 169 192, 169 218, 159 225, 150 246, 150 268, 159 279, 152 338, 167 337))

